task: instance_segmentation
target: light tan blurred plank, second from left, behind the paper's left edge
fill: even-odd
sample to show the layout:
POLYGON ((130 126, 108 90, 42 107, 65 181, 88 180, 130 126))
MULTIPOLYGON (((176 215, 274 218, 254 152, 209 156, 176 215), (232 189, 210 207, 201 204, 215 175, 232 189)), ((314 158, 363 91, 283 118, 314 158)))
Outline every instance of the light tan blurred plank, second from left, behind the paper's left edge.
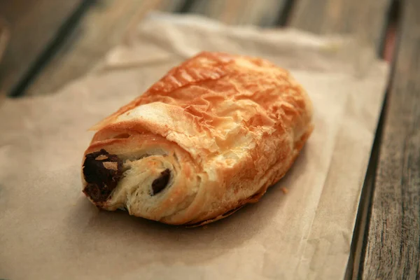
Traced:
POLYGON ((48 94, 83 76, 127 30, 135 28, 148 11, 172 10, 182 1, 97 0, 78 23, 65 45, 27 88, 27 95, 48 94))

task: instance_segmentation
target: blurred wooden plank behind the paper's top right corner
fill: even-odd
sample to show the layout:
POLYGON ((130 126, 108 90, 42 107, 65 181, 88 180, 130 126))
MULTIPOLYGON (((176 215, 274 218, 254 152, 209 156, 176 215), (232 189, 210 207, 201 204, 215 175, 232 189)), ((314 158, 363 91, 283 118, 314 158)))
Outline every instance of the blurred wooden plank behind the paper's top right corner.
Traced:
POLYGON ((297 0, 290 25, 316 34, 352 34, 358 43, 380 45, 391 0, 297 0))

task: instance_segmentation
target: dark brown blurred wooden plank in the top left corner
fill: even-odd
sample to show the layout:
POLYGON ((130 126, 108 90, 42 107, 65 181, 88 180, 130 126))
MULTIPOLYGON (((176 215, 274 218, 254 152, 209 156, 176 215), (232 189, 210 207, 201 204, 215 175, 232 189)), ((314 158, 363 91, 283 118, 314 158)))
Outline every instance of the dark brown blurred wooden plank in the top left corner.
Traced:
POLYGON ((82 0, 0 1, 10 41, 0 64, 0 91, 10 92, 24 78, 57 31, 82 0))

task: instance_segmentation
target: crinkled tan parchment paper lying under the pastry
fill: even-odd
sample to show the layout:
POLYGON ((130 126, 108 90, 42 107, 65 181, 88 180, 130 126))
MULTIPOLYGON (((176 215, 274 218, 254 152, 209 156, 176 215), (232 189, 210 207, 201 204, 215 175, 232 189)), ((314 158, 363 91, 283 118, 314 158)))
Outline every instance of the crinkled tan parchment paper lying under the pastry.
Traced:
POLYGON ((0 278, 342 279, 388 67, 351 38, 152 14, 88 76, 0 107, 0 278), (81 194, 87 129, 200 50, 293 73, 315 130, 257 204, 203 228, 99 211, 81 194), (282 188, 288 193, 283 193, 282 188))

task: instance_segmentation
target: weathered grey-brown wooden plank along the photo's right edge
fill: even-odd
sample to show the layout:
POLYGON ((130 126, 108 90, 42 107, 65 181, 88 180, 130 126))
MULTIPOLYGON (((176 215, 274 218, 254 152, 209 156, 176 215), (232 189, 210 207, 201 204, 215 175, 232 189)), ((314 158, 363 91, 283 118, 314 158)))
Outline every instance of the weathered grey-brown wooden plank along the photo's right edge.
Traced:
POLYGON ((363 279, 420 276, 420 1, 403 3, 363 279))

